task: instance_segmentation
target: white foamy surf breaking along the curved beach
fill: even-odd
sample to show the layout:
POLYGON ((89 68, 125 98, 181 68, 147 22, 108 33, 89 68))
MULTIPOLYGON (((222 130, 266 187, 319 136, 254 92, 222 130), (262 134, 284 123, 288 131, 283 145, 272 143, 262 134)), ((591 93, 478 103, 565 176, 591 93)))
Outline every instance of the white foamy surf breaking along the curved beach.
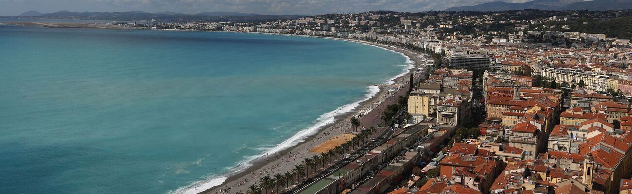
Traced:
MULTIPOLYGON (((332 39, 332 40, 338 40, 338 39, 332 39)), ((344 40, 347 41, 347 40, 344 40)), ((355 42, 355 41, 352 41, 355 42)), ((362 42, 356 42, 356 43, 362 43, 362 42)), ((362 43, 363 45, 371 45, 368 43, 362 43)), ((371 45, 374 47, 378 47, 381 48, 383 50, 388 50, 391 52, 394 52, 396 54, 400 54, 402 55, 405 59, 406 59, 406 64, 407 66, 403 68, 402 72, 400 74, 398 74, 397 76, 391 77, 389 79, 386 80, 386 84, 394 84, 395 81, 394 79, 404 76, 406 74, 408 74, 408 71, 410 69, 415 68, 414 64, 415 62, 410 59, 410 57, 408 57, 408 55, 405 55, 401 52, 397 52, 395 50, 391 50, 389 48, 386 47, 381 47, 379 45, 371 45)), ((178 188, 178 190, 175 191, 171 191, 169 193, 177 193, 177 194, 196 194, 196 193, 200 193, 201 191, 207 190, 209 188, 213 188, 214 186, 219 186, 222 185, 224 183, 224 181, 228 180, 228 177, 233 175, 233 174, 237 174, 240 173, 241 171, 245 170, 246 168, 252 166, 251 161, 258 159, 260 157, 264 157, 267 156, 269 154, 274 154, 276 152, 281 152, 284 151, 285 149, 288 149, 289 147, 292 147, 296 144, 299 144, 300 142, 305 142, 305 137, 309 137, 310 135, 316 134, 319 130, 319 128, 324 127, 325 125, 329 125, 330 123, 334 123, 336 121, 336 117, 339 115, 343 115, 344 113, 348 113, 349 111, 353 111, 356 107, 360 106, 360 103, 370 100, 371 98, 373 98, 377 93, 380 92, 380 88, 378 86, 365 86, 367 89, 365 90, 367 93, 365 93, 364 97, 362 100, 358 100, 355 101, 353 103, 349 103, 343 106, 340 106, 338 108, 336 108, 336 110, 332 110, 329 111, 323 115, 320 115, 320 117, 314 122, 314 124, 311 127, 306 128, 305 130, 301 130, 300 132, 296 133, 295 135, 293 135, 292 137, 290 137, 289 139, 281 142, 280 144, 276 144, 274 145, 274 147, 272 147, 271 149, 265 149, 264 152, 262 152, 262 154, 258 154, 255 156, 250 156, 250 157, 246 157, 245 159, 243 159, 242 161, 240 161, 240 163, 237 164, 237 166, 234 166, 233 168, 228 168, 228 172, 226 174, 222 174, 219 176, 208 176, 207 178, 205 178, 205 180, 203 181, 197 181, 195 183, 192 183, 189 186, 184 186, 181 188, 178 188)))

